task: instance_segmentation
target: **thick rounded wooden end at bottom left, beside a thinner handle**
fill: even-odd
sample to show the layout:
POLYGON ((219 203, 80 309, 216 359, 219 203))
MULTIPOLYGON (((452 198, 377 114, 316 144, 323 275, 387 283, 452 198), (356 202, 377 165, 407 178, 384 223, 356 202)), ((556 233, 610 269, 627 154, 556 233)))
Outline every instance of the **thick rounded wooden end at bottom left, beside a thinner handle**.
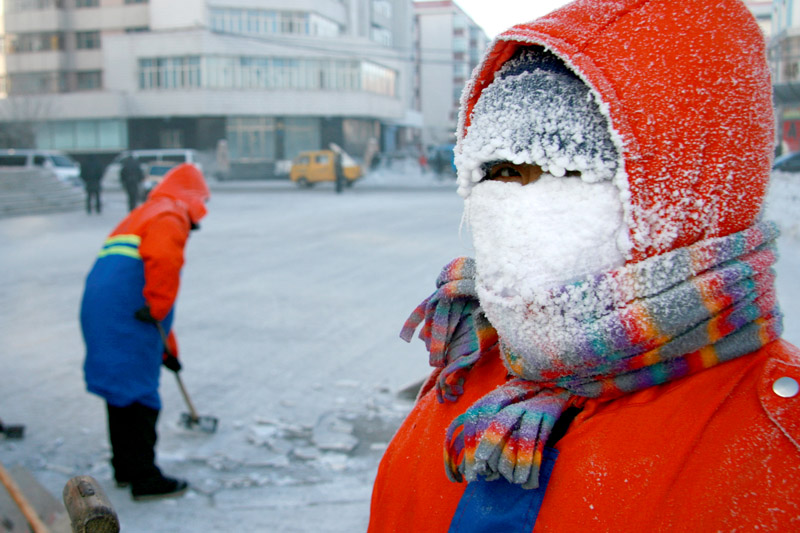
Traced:
POLYGON ((118 533, 119 518, 100 484, 75 476, 64 485, 64 505, 73 533, 118 533))

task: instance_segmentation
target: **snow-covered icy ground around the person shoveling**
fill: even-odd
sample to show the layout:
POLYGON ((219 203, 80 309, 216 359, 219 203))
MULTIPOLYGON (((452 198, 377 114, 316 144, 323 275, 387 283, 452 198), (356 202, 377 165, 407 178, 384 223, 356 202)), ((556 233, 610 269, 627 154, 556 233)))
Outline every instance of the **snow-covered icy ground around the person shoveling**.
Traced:
MULTIPOLYGON (((193 234, 175 329, 184 381, 215 434, 181 428, 170 373, 158 461, 184 497, 137 503, 107 465, 103 402, 84 390, 78 306, 100 244, 125 215, 0 219, 0 417, 24 424, 0 461, 28 468, 56 497, 90 474, 124 531, 366 529, 383 447, 410 408, 397 393, 427 373, 424 346, 398 338, 440 268, 470 254, 452 179, 414 165, 329 184, 212 185, 193 234)), ((783 228, 778 294, 785 338, 800 344, 800 176, 776 175, 768 217, 783 228)))

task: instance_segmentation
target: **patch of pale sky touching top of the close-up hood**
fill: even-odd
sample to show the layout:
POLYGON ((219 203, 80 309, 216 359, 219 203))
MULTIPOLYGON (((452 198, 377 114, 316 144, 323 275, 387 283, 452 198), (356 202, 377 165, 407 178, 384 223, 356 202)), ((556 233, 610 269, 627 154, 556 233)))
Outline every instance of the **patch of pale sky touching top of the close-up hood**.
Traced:
POLYGON ((527 22, 568 4, 570 0, 455 0, 493 39, 514 24, 527 22))

